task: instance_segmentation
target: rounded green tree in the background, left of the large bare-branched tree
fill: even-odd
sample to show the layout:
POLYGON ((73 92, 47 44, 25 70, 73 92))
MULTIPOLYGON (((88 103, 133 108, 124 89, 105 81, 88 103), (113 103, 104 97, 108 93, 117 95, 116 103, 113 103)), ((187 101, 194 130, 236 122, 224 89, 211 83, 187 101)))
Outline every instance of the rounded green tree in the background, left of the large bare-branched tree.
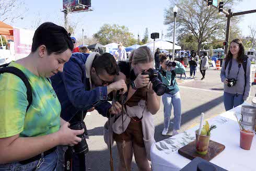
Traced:
POLYGON ((101 44, 121 42, 123 46, 131 46, 137 42, 134 35, 129 32, 127 27, 119 25, 104 24, 93 37, 99 40, 101 44))

